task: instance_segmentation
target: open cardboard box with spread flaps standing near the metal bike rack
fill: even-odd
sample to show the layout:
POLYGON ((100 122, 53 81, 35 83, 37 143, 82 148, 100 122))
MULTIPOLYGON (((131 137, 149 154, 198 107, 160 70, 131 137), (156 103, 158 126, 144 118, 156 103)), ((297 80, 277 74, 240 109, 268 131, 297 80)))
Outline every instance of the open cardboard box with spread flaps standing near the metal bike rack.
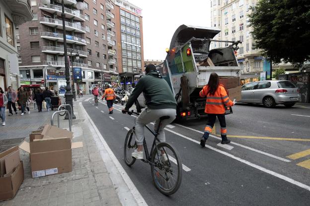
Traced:
POLYGON ((73 132, 51 125, 29 137, 30 143, 23 142, 19 148, 30 153, 32 177, 71 172, 71 150, 83 147, 82 142, 71 142, 73 132))

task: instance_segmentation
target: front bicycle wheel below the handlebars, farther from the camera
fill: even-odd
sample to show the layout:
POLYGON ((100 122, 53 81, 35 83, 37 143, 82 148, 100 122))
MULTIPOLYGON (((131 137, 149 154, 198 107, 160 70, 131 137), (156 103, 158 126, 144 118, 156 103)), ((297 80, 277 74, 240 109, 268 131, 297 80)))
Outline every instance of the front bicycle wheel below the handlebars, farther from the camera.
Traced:
POLYGON ((124 145, 124 159, 125 163, 130 166, 133 163, 135 163, 136 158, 132 157, 131 154, 136 150, 137 143, 136 138, 134 136, 134 130, 130 129, 127 132, 126 139, 125 139, 125 145, 124 145))

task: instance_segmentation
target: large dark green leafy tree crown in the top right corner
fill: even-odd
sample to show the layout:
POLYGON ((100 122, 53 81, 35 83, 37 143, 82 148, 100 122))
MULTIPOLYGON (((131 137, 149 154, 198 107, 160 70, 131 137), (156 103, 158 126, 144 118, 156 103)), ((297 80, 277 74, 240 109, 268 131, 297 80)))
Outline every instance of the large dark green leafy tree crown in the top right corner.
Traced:
POLYGON ((274 63, 310 60, 310 0, 260 0, 248 15, 255 48, 274 63))

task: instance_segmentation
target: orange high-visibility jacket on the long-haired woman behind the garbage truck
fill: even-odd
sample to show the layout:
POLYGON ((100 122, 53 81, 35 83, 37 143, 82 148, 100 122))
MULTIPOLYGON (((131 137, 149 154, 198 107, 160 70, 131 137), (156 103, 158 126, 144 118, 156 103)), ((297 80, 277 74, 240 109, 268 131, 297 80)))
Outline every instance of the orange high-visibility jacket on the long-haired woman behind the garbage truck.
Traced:
POLYGON ((224 114, 224 104, 226 106, 233 106, 233 102, 229 99, 227 92, 223 85, 219 85, 214 95, 208 94, 209 86, 206 85, 199 93, 200 97, 206 97, 205 113, 207 114, 224 114), (207 95, 208 94, 208 95, 207 95))

